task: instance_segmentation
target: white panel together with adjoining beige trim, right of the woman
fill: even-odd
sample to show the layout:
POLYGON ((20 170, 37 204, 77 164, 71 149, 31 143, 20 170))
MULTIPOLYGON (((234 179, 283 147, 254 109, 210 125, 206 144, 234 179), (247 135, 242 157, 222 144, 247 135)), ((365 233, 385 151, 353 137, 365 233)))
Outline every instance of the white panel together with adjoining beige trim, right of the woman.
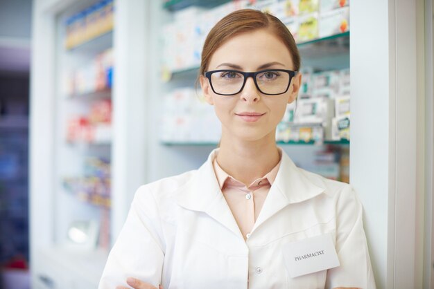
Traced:
POLYGON ((407 0, 351 2, 350 177, 365 207, 378 288, 422 284, 417 7, 407 0))

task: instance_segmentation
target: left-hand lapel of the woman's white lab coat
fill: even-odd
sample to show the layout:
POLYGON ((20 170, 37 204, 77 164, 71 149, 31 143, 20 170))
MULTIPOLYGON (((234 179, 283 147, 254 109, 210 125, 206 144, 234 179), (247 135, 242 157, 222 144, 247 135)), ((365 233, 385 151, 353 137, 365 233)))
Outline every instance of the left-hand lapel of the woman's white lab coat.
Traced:
POLYGON ((196 171, 192 180, 180 189, 180 193, 177 194, 177 203, 185 209, 205 212, 243 238, 214 173, 212 161, 216 156, 216 151, 217 149, 210 153, 207 162, 196 171))

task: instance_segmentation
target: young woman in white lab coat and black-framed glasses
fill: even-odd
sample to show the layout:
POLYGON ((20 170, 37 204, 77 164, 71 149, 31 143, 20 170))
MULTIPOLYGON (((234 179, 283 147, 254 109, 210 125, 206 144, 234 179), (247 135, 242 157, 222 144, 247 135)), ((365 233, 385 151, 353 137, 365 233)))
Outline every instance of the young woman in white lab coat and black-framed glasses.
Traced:
POLYGON ((138 189, 100 289, 375 288, 354 190, 276 146, 299 69, 276 17, 238 10, 214 26, 199 80, 220 147, 198 170, 138 189))

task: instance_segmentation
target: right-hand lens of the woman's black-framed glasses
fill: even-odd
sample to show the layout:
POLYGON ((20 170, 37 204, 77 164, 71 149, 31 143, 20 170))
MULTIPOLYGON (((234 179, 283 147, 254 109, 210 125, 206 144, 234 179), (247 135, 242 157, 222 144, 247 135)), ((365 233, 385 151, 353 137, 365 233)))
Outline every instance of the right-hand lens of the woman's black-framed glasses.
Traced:
POLYGON ((281 94, 288 89, 290 75, 286 71, 264 71, 257 75, 259 90, 266 94, 281 94))

